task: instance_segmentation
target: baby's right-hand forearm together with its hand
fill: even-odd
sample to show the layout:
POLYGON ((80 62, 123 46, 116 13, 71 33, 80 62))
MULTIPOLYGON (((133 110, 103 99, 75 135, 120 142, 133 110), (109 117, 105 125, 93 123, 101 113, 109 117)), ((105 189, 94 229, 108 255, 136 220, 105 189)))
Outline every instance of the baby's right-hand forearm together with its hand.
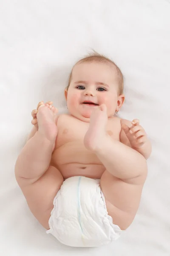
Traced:
POLYGON ((142 126, 139 125, 139 120, 134 119, 130 122, 128 120, 121 119, 121 127, 120 141, 135 149, 142 154, 145 159, 147 159, 151 154, 152 145, 146 132, 142 126))

